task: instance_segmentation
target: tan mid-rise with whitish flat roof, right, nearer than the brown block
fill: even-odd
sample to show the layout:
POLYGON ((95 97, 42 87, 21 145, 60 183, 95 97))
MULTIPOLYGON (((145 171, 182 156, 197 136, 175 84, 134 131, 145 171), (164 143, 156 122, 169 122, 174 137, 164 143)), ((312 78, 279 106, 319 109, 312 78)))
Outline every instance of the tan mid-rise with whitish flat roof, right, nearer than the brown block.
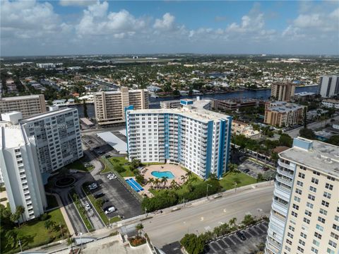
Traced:
POLYGON ((284 127, 302 123, 306 106, 285 101, 272 101, 265 105, 264 123, 268 125, 284 127))

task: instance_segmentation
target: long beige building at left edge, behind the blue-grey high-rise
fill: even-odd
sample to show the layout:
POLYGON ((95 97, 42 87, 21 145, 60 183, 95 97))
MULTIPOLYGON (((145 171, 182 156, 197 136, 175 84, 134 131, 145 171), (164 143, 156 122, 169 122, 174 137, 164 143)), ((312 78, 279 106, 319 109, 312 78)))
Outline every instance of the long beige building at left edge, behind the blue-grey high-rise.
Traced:
POLYGON ((44 95, 32 96, 14 96, 0 99, 0 114, 6 112, 19 111, 23 118, 31 115, 46 112, 46 103, 44 102, 44 95))

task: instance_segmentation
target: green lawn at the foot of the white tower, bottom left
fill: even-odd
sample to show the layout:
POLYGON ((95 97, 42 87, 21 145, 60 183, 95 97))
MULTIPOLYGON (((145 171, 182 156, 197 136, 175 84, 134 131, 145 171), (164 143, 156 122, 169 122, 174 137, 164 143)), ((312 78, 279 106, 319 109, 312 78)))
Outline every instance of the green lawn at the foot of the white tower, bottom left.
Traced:
MULTIPOLYGON (((60 209, 55 209, 51 212, 47 212, 47 214, 50 220, 54 221, 57 225, 64 225, 64 229, 67 229, 64 217, 62 216, 60 209)), ((21 226, 20 229, 16 229, 18 231, 18 238, 20 239, 24 250, 51 243, 52 241, 61 240, 61 231, 59 227, 55 230, 47 230, 44 228, 44 221, 40 221, 40 219, 28 221, 23 226, 21 226)), ((67 231, 64 230, 64 236, 66 236, 67 234, 68 229, 67 231)), ((17 253, 19 251, 20 248, 12 249, 11 247, 7 247, 2 249, 1 253, 17 253)))

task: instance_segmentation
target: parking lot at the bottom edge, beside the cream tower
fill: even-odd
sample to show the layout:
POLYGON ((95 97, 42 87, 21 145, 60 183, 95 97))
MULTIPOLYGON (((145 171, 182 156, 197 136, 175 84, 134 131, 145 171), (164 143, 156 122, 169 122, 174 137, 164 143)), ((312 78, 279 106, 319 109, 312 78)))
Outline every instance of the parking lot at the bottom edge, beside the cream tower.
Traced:
POLYGON ((205 248, 204 253, 253 253, 260 243, 265 243, 268 223, 266 221, 242 230, 246 239, 243 241, 236 233, 221 236, 211 241, 205 248))

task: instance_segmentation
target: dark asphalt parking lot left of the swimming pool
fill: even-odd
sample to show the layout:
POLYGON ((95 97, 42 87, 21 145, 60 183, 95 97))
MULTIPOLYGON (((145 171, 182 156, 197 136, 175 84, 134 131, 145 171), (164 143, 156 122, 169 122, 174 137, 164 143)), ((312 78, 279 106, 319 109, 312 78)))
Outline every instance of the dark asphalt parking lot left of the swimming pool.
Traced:
POLYGON ((128 219, 140 215, 142 213, 141 204, 136 197, 117 178, 109 180, 107 175, 108 173, 96 175, 96 183, 99 184, 99 187, 93 190, 93 195, 99 192, 105 193, 103 197, 100 197, 102 200, 108 200, 102 206, 104 210, 111 206, 117 209, 117 211, 107 214, 107 216, 112 218, 119 215, 121 218, 128 219))

